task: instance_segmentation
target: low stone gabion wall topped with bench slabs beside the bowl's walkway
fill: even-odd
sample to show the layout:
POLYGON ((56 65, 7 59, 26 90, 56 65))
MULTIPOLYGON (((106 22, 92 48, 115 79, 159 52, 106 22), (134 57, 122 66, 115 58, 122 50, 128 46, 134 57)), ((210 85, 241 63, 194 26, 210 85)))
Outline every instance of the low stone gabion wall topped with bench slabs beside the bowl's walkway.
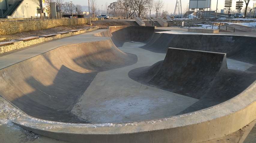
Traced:
MULTIPOLYGON (((97 29, 98 29, 98 27, 94 27, 94 28, 90 28, 90 29, 77 30, 74 32, 68 32, 68 33, 64 33, 64 34, 56 34, 55 36, 50 36, 50 37, 38 37, 36 39, 31 39, 31 40, 14 40, 11 44, 5 44, 5 45, 0 46, 0 54, 10 52, 12 50, 24 48, 27 46, 31 46, 34 44, 42 43, 45 41, 50 41, 53 39, 60 39, 60 38, 64 38, 64 37, 68 37, 68 36, 72 36, 72 35, 90 32, 90 31, 97 30, 97 29)), ((3 43, 3 42, 0 42, 0 44, 1 43, 3 43)))

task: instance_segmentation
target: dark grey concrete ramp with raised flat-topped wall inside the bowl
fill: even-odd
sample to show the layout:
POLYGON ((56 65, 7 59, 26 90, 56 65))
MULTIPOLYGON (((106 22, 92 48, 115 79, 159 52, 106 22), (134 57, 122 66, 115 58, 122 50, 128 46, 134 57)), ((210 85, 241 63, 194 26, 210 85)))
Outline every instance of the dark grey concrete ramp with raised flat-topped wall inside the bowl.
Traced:
POLYGON ((164 61, 131 70, 129 77, 143 84, 199 99, 180 114, 229 100, 256 79, 254 73, 227 69, 225 53, 177 48, 168 48, 164 61))

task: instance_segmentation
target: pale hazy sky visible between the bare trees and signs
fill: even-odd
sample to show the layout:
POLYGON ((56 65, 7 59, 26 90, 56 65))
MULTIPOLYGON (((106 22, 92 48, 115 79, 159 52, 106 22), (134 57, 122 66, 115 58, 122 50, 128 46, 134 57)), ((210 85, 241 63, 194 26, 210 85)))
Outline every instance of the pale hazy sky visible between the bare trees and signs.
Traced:
MULTIPOLYGON (((69 1, 69 0, 64 0, 64 1, 69 1)), ((88 6, 88 0, 72 0, 74 4, 80 4, 80 5, 87 5, 88 6)), ((96 0, 97 4, 98 4, 98 8, 101 9, 101 5, 103 5, 103 10, 105 10, 105 3, 107 2, 108 4, 116 1, 116 0, 96 0)), ((169 13, 173 13, 174 12, 174 8, 175 8, 175 3, 176 0, 163 0, 164 1, 164 8, 162 10, 167 10, 169 13)), ((224 8, 224 1, 225 0, 218 0, 218 10, 223 9, 224 8)), ((235 9, 235 3, 238 0, 232 0, 232 8, 235 9)), ((249 7, 253 7, 253 3, 255 1, 250 1, 249 3, 249 7)), ((182 3, 182 10, 185 9, 185 7, 188 6, 189 0, 181 0, 182 3)), ((216 10, 216 3, 217 0, 212 0, 212 6, 211 9, 212 10, 216 10)), ((243 8, 245 8, 245 4, 243 6, 243 8)))

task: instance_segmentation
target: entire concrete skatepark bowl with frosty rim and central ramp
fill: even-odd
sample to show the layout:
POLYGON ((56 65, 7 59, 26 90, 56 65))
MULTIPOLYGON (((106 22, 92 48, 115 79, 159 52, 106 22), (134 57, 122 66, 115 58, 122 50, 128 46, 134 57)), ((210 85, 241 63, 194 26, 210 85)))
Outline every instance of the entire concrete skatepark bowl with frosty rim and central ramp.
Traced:
POLYGON ((14 124, 68 142, 196 143, 256 118, 255 37, 145 26, 92 37, 0 70, 14 124))

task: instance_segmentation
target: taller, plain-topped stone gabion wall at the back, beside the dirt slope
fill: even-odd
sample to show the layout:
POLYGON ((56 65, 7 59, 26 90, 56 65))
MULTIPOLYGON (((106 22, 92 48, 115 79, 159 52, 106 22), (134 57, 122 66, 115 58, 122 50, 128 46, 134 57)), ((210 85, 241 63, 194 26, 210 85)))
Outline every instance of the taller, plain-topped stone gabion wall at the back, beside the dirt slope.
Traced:
MULTIPOLYGON (((91 18, 91 21, 97 20, 98 18, 91 18)), ((24 31, 43 30, 57 26, 79 25, 86 23, 89 23, 89 18, 0 21, 0 35, 8 35, 24 31)))

